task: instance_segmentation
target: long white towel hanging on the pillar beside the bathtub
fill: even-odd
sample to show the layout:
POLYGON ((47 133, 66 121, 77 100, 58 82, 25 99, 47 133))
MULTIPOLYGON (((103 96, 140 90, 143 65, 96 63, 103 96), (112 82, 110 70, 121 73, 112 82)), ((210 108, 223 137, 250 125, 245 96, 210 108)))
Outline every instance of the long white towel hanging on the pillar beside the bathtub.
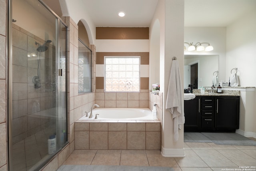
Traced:
POLYGON ((179 63, 177 60, 173 60, 167 91, 166 109, 172 114, 174 141, 178 141, 178 129, 181 129, 182 124, 185 123, 183 94, 179 63))

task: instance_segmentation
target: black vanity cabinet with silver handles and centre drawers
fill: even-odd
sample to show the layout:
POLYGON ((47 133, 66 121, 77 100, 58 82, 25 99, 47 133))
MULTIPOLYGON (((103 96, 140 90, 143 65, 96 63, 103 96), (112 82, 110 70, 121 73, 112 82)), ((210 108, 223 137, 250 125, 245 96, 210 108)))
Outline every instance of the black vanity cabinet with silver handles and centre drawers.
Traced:
POLYGON ((234 132, 239 128, 239 96, 196 96, 184 100, 184 131, 234 132))

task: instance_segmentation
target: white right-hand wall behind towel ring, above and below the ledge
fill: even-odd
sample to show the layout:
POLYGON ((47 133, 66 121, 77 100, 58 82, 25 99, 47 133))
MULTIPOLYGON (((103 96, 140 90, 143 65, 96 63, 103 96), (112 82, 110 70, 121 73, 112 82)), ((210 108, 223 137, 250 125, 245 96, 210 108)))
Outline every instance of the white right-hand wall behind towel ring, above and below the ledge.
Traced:
MULTIPOLYGON (((248 12, 227 27, 226 78, 232 68, 238 68, 240 86, 256 87, 256 9, 248 12)), ((245 111, 244 131, 254 132, 256 137, 256 91, 251 92, 246 101, 240 101, 248 106, 245 111), (250 97, 250 99, 248 99, 250 97), (252 107, 254 106, 254 108, 252 107), (248 128, 246 125, 252 125, 248 128)))

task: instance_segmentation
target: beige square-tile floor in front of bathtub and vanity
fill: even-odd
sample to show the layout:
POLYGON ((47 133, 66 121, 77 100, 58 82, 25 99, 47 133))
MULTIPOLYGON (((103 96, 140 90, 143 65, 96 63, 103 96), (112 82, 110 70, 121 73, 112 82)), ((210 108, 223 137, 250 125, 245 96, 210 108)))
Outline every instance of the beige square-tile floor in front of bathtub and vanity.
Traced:
POLYGON ((224 171, 256 166, 256 146, 187 142, 184 149, 186 157, 162 157, 160 150, 75 150, 63 165, 162 166, 174 171, 224 171))

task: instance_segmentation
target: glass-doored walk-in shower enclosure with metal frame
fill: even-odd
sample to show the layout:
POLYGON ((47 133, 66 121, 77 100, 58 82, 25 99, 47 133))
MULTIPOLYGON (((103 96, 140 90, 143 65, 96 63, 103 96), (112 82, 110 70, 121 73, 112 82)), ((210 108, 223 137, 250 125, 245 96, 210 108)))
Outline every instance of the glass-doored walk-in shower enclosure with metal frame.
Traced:
POLYGON ((9 0, 9 170, 40 170, 67 143, 67 27, 41 0, 9 0))

